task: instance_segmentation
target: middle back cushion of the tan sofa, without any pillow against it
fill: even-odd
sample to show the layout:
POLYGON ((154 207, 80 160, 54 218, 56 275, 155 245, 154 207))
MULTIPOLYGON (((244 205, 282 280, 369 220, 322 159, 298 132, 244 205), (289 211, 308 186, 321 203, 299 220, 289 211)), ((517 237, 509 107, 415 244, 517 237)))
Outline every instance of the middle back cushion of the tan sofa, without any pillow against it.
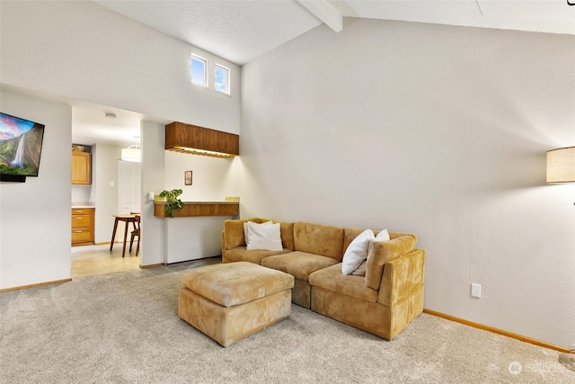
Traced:
POLYGON ((332 257, 343 257, 343 228, 297 222, 294 224, 296 251, 332 257))

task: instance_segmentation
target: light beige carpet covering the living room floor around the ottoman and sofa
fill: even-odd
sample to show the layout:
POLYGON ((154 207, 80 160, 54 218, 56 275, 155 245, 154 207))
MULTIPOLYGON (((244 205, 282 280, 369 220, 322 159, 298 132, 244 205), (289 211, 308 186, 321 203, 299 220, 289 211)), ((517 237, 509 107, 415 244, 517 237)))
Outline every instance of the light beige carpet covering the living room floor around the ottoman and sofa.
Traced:
POLYGON ((0 294, 0 382, 575 383, 555 351, 426 314, 388 342, 293 305, 223 348, 176 315, 197 265, 0 294))

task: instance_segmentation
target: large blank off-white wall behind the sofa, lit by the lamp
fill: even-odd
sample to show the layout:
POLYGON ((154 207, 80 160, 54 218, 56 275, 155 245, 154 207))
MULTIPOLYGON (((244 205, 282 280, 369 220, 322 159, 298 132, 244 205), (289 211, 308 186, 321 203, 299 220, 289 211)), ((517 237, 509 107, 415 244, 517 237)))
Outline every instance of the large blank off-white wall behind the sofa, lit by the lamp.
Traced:
POLYGON ((575 344, 575 37, 321 26, 243 66, 243 217, 418 235, 425 308, 575 344), (482 299, 470 284, 482 284, 482 299))

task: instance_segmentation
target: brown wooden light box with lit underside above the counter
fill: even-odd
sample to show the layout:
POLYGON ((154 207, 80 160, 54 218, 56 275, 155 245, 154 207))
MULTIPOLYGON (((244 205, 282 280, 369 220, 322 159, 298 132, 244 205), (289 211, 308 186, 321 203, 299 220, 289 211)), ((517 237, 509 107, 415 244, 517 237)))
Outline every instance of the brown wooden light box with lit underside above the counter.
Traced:
POLYGON ((221 130, 175 121, 165 126, 165 149, 191 155, 238 156, 240 137, 221 130))

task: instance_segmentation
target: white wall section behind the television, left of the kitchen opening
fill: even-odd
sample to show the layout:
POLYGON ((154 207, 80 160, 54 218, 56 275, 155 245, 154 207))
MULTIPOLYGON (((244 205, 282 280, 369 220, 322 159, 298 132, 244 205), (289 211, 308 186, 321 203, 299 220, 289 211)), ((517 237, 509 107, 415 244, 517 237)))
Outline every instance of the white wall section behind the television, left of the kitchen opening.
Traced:
POLYGON ((69 279, 72 111, 4 89, 0 110, 45 125, 38 177, 0 183, 0 289, 69 279))

